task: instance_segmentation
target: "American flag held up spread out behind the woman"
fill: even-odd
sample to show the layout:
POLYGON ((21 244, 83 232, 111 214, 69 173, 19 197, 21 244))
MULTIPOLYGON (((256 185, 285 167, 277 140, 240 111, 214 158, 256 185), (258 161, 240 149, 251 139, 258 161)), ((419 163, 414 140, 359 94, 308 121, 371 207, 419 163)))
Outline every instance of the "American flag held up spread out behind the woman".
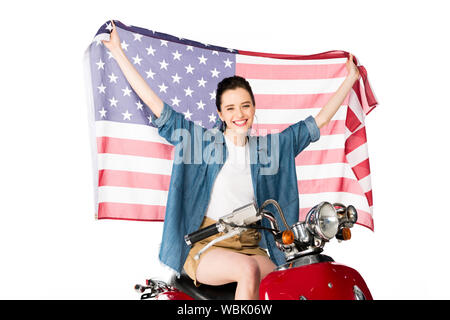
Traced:
MULTIPOLYGON (((115 22, 128 59, 159 97, 186 119, 211 128, 217 83, 240 75, 253 89, 254 129, 279 132, 315 116, 343 82, 348 53, 268 54, 224 48, 115 22)), ((111 53, 108 21, 85 53, 97 219, 163 221, 174 147, 159 136, 151 111, 111 53)), ((373 201, 364 118, 377 102, 361 78, 319 141, 297 158, 299 219, 321 201, 352 204, 358 224, 373 230, 373 201)))

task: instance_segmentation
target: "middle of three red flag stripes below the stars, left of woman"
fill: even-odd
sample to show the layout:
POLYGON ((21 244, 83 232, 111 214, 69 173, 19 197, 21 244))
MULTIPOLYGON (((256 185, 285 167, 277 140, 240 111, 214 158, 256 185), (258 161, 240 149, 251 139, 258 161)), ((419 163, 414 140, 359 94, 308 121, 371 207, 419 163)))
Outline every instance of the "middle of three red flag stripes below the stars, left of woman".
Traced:
POLYGON ((168 191, 170 176, 143 172, 99 170, 98 186, 143 188, 168 191))

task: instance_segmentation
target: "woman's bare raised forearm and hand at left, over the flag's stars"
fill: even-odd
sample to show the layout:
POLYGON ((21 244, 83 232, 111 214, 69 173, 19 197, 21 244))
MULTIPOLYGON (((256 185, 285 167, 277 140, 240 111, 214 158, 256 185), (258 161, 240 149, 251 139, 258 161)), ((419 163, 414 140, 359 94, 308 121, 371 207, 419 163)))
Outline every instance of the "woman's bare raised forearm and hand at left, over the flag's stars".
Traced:
POLYGON ((136 68, 128 60, 127 56, 122 50, 120 44, 119 34, 116 30, 116 25, 112 21, 113 30, 111 31, 111 37, 109 41, 103 40, 105 47, 111 51, 114 59, 116 59, 117 64, 122 70, 125 78, 130 83, 134 92, 141 98, 150 110, 159 118, 164 107, 163 101, 156 95, 155 92, 150 88, 148 83, 142 78, 136 68))

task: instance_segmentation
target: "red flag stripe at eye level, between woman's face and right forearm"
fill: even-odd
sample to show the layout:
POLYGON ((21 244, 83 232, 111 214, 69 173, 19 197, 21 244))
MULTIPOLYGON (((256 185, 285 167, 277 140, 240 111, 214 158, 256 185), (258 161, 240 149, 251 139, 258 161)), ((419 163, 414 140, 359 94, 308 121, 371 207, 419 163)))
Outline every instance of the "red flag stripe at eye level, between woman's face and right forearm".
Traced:
MULTIPOLYGON (((257 109, 312 109, 322 108, 333 93, 318 94, 255 94, 257 109)), ((348 105, 350 96, 347 95, 343 105, 348 105)))

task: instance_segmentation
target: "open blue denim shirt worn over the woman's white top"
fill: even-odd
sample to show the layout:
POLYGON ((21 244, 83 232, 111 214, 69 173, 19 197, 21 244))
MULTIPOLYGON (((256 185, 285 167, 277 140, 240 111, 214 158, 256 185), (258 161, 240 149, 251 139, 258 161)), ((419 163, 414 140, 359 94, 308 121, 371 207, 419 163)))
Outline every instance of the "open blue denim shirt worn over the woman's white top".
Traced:
MULTIPOLYGON (((228 150, 221 130, 203 128, 165 102, 160 117, 152 118, 159 134, 175 145, 159 259, 179 274, 190 250, 184 236, 199 229, 228 150)), ((255 202, 260 207, 267 199, 276 200, 289 225, 299 218, 295 157, 319 137, 312 116, 280 133, 248 137, 255 202)), ((274 214, 280 227, 284 226, 273 205, 266 210, 274 214)), ((270 227, 266 219, 262 225, 270 227)), ((284 253, 276 247, 273 235, 268 231, 261 233, 259 245, 268 250, 276 265, 285 263, 284 253)))

